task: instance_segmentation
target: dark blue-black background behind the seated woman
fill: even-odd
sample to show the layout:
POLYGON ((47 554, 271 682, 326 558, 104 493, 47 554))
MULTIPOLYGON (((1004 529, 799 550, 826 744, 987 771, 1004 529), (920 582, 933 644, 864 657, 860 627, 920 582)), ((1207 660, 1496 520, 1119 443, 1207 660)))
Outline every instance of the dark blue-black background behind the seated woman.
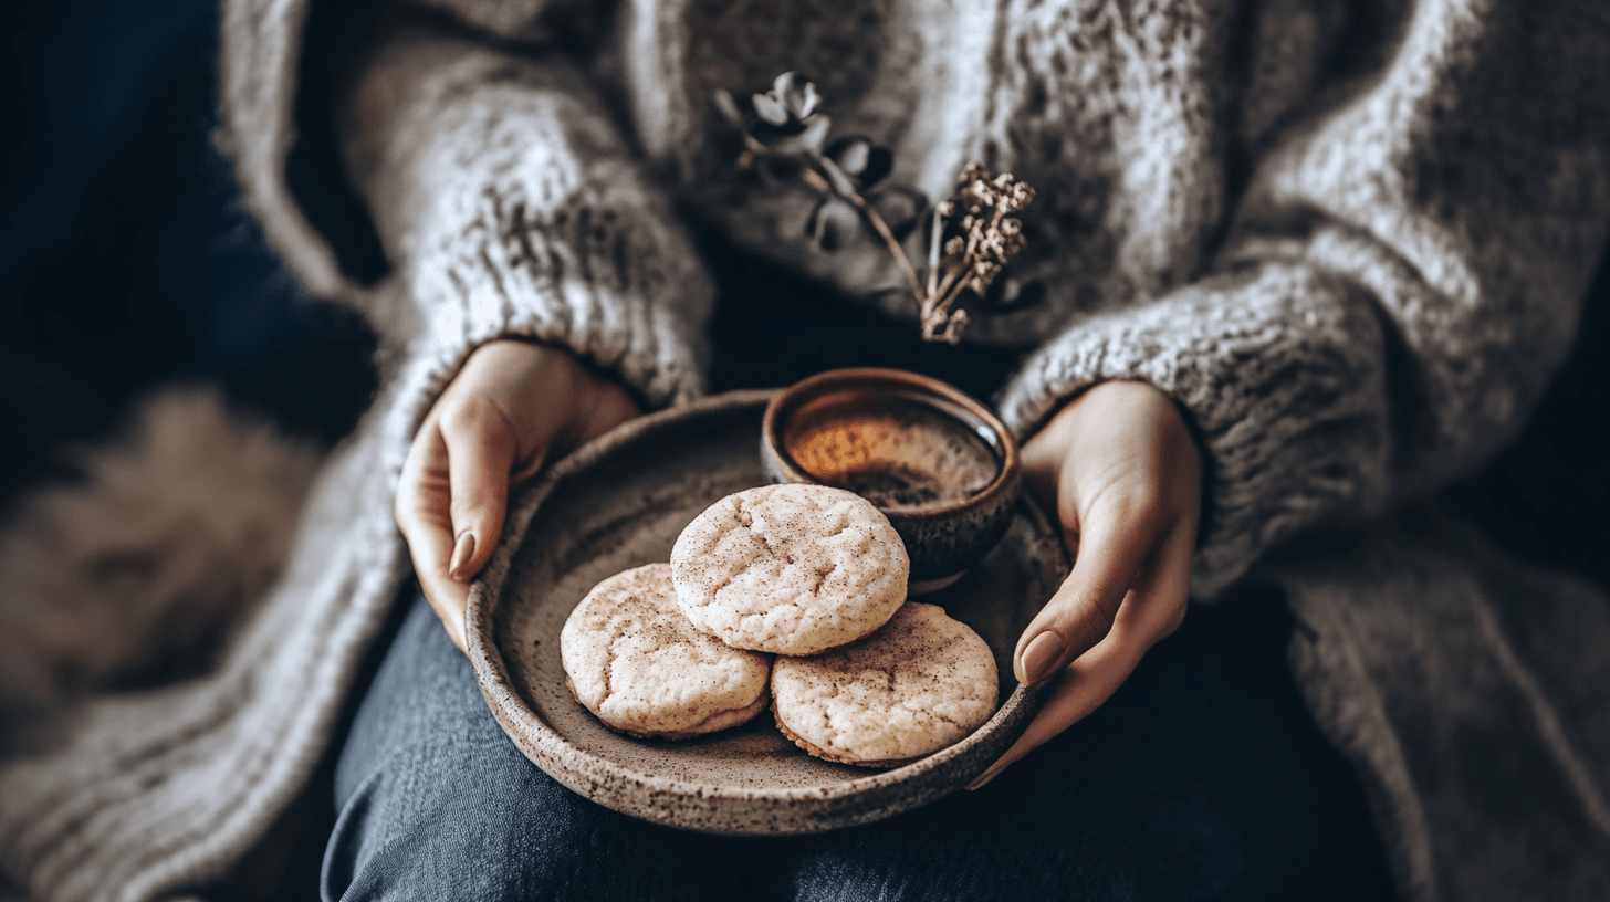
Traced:
MULTIPOLYGON (((0 8, 0 517, 29 486, 74 478, 68 449, 113 435, 156 385, 222 385, 322 443, 374 395, 374 337, 298 292, 213 150, 216 31, 211 0, 0 8)), ((1607 341, 1600 266, 1578 348, 1526 435, 1446 493, 1521 557, 1602 586, 1607 341)), ((287 870, 317 865, 324 799, 285 817, 283 857, 248 862, 238 894, 269 875, 312 886, 287 870)))

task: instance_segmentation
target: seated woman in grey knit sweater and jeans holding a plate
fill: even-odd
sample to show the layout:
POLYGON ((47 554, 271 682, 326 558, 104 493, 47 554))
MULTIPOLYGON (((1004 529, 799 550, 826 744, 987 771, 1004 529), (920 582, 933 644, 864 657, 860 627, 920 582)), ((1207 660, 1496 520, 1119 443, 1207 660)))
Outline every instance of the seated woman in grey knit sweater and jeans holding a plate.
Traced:
MULTIPOLYGON (((1146 744, 1122 744, 1140 730, 1122 717, 1092 717, 1087 734, 1116 738, 1106 755, 1064 734, 1180 625, 1187 598, 1270 591, 1401 896, 1610 886, 1604 704, 1584 689, 1604 685, 1587 644, 1610 630, 1602 599, 1438 515, 1386 519, 1499 449, 1570 345, 1610 211, 1604 11, 441 0, 354 19, 232 3, 227 135, 270 240, 312 293, 388 332, 394 379, 327 467, 285 580, 224 670, 108 704, 76 739, 72 760, 113 762, 113 778, 66 797, 56 823, 101 828, 76 833, 76 852, 61 850, 66 826, 14 842, 40 892, 66 894, 72 854, 130 896, 238 854, 333 739, 409 561, 423 601, 343 743, 330 897, 708 894, 720 884, 679 862, 734 852, 755 862, 744 881, 802 897, 1302 892, 1312 868, 1282 859, 1320 841, 1325 770, 1224 730, 1235 686, 1190 696, 1216 714, 1199 725, 1159 707, 1174 720, 1151 738, 1188 749, 1217 725, 1232 736, 1204 754, 1245 780, 1122 776, 1183 801, 1077 807, 1100 797, 1092 773, 1146 744), (705 359, 731 354, 707 345, 712 287, 687 222, 914 321, 886 248, 813 246, 819 198, 736 168, 708 98, 765 90, 781 69, 815 74, 836 134, 892 150, 892 184, 939 198, 982 159, 1037 188, 1014 303, 969 309, 964 340, 1001 351, 932 369, 1000 369, 1034 348, 1000 409, 1079 562, 1019 641, 1018 676, 1058 686, 985 775, 998 784, 927 826, 741 846, 654 833, 557 789, 486 730, 451 646, 509 482, 699 395, 705 359), (1314 810, 1282 810, 1259 776, 1314 810), (137 789, 150 780, 175 788, 137 789), (185 812, 184 826, 142 834, 137 805, 185 812), (977 836, 995 844, 969 859, 977 836)), ((726 343, 742 340, 731 316, 744 319, 723 311, 726 343)), ((844 316, 850 332, 876 322, 844 316)), ((1140 697, 1180 707, 1188 686, 1167 675, 1193 654, 1140 697)))

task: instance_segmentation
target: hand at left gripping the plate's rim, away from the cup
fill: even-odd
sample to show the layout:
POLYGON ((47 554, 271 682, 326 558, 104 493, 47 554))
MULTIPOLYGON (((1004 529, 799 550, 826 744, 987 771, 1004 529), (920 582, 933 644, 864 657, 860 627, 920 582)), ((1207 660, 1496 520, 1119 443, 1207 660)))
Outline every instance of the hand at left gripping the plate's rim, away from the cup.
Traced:
POLYGON ((502 535, 509 490, 543 462, 638 416, 636 401, 562 348, 477 348, 419 427, 396 520, 425 599, 459 651, 470 578, 502 535))

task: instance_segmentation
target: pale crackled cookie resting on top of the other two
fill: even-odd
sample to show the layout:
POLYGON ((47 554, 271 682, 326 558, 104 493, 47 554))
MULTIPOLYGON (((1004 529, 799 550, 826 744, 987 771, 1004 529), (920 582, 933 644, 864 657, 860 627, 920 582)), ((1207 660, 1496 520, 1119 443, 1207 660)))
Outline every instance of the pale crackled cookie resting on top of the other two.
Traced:
POLYGON ((791 656, 882 627, 905 602, 910 570, 905 543, 877 507, 823 485, 729 494, 671 549, 676 599, 696 628, 791 656))

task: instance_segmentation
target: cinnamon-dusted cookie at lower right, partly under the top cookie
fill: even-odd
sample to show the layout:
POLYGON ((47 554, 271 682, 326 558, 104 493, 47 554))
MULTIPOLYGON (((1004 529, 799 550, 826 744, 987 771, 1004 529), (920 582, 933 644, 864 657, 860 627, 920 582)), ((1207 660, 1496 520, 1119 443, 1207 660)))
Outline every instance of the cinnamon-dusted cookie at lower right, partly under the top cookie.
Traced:
POLYGON ((990 646, 935 604, 911 602, 879 631, 771 668, 778 728, 807 752, 898 767, 955 744, 995 714, 990 646))

